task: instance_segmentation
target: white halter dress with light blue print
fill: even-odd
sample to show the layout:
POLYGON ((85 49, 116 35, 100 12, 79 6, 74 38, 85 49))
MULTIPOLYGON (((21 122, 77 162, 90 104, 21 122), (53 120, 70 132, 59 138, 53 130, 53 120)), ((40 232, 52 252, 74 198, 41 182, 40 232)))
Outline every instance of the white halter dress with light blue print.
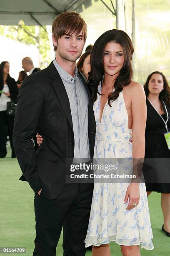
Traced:
MULTIPOLYGON (((101 85, 99 85, 101 93, 101 85)), ((94 103, 96 138, 94 159, 131 158, 132 131, 128 128, 128 113, 123 92, 106 103, 100 123, 100 95, 94 103)), ((129 183, 95 183, 90 212, 90 220, 85 238, 86 247, 115 241, 119 245, 140 245, 152 250, 153 233, 145 184, 140 184, 140 202, 132 210, 126 210, 128 202, 124 198, 129 183)))

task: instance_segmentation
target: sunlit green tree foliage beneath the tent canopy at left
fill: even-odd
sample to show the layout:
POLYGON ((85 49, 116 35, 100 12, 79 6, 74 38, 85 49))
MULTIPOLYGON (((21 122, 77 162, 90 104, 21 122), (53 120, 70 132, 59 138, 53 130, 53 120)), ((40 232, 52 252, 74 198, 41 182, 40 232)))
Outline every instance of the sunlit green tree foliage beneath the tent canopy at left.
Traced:
POLYGON ((25 26, 24 22, 20 21, 16 26, 0 26, 0 34, 23 44, 35 45, 40 52, 42 68, 50 63, 50 43, 47 32, 42 27, 25 26))

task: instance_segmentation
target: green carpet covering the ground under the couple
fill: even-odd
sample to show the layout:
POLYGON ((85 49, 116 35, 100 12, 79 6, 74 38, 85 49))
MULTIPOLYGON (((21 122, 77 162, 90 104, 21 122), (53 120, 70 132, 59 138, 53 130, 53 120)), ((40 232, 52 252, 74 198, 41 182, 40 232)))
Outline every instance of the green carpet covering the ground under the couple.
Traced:
MULTIPOLYGON (((10 158, 9 146, 7 149, 7 157, 0 159, 0 247, 26 247, 26 255, 32 256, 35 238, 34 193, 27 182, 18 180, 21 175, 18 161, 10 158)), ((153 192, 148 201, 155 249, 153 251, 142 249, 141 255, 170 255, 170 238, 161 231, 163 215, 160 208, 160 194, 153 192)), ((120 246, 113 242, 111 251, 112 256, 122 255, 120 246)), ((62 236, 56 255, 62 256, 62 236)), ((91 252, 87 251, 86 256, 90 255, 91 252)))

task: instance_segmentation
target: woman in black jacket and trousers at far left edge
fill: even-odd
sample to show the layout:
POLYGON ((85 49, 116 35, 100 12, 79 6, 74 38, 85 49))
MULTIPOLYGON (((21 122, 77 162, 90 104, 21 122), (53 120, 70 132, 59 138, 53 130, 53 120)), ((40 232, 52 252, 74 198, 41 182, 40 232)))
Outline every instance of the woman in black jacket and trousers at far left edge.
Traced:
POLYGON ((12 149, 12 158, 15 158, 13 148, 13 123, 14 118, 7 116, 7 102, 11 99, 16 101, 18 91, 15 79, 10 77, 10 64, 7 61, 2 61, 0 64, 0 158, 7 154, 6 150, 6 125, 10 137, 10 146, 12 149))

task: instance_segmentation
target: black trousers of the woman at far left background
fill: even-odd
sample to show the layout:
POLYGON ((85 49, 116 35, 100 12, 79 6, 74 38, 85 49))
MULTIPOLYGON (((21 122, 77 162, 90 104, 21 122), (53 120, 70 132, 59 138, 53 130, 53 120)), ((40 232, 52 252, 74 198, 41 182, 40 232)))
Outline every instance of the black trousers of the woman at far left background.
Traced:
POLYGON ((5 157, 7 154, 6 149, 6 125, 10 137, 10 146, 12 149, 12 157, 15 157, 15 150, 13 147, 13 129, 14 118, 7 116, 7 111, 0 111, 0 157, 5 157))

